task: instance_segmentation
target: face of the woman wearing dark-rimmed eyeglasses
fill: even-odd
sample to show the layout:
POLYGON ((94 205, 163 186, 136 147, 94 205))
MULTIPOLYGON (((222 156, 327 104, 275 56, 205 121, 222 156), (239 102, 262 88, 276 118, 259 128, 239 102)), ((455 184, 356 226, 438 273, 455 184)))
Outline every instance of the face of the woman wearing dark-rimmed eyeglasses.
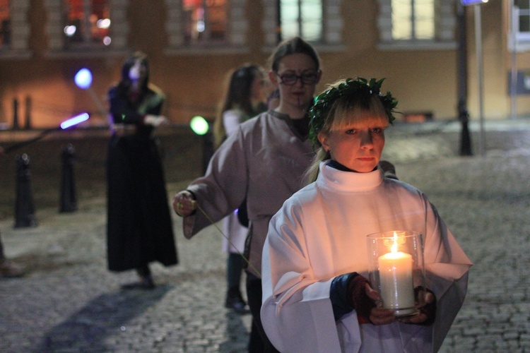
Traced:
POLYGON ((313 99, 314 90, 322 76, 321 71, 317 71, 317 66, 310 56, 306 54, 290 54, 285 56, 278 64, 278 72, 270 71, 271 83, 280 90, 280 104, 276 108, 278 112, 289 114, 292 119, 299 119, 304 116, 307 106, 313 99), (317 80, 314 83, 303 83, 300 78, 294 85, 281 83, 279 76, 316 73, 317 80))

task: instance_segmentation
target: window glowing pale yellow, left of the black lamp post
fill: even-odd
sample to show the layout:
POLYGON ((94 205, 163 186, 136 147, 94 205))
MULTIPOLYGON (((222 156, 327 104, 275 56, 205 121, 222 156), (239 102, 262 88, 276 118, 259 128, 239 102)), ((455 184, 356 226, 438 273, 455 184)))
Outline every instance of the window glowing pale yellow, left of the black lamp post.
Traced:
POLYGON ((435 38, 434 0, 392 0, 394 40, 433 40, 435 38))

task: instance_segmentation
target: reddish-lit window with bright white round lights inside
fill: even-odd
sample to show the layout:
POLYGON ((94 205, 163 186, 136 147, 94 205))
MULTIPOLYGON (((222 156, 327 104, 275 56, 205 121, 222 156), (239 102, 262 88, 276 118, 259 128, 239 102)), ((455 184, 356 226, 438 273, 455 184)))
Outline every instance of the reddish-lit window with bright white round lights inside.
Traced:
POLYGON ((64 43, 66 48, 109 45, 108 0, 64 0, 64 43))

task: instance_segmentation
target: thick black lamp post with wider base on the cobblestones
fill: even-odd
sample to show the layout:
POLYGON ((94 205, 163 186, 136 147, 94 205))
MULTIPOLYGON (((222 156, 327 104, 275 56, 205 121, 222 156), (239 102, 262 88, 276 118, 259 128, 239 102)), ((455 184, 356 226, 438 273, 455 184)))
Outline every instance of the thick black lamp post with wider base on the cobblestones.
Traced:
POLYGON ((473 155, 471 134, 469 133, 469 112, 467 110, 467 40, 466 8, 457 1, 458 20, 458 118, 462 129, 460 136, 460 155, 473 155))

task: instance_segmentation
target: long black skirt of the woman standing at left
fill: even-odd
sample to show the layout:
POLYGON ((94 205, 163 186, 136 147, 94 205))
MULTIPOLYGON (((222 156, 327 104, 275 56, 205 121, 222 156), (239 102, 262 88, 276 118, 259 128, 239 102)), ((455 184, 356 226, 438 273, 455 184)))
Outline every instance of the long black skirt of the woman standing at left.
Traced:
POLYGON ((176 265, 163 169, 153 139, 112 136, 107 182, 109 270, 131 270, 153 261, 176 265))

